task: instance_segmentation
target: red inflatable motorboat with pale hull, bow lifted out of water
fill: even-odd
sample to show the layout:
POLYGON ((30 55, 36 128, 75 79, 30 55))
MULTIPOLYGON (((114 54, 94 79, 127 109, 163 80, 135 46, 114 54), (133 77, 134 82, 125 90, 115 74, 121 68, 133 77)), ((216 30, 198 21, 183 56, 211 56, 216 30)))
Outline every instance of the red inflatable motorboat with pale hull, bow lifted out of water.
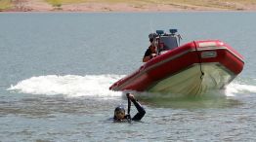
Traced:
MULTIPOLYGON (((175 32, 160 32, 157 36, 159 44, 168 45, 175 40, 175 44, 178 43, 175 32)), ((225 88, 243 68, 243 57, 218 40, 192 41, 170 47, 172 49, 150 59, 109 89, 202 94, 210 89, 225 88)))

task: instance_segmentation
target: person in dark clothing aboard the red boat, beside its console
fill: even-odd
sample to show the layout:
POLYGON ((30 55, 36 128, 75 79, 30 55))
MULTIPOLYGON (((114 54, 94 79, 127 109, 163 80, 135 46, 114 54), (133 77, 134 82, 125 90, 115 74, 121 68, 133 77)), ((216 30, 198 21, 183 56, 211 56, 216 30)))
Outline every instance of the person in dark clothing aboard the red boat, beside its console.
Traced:
POLYGON ((149 49, 146 51, 143 57, 143 62, 149 61, 151 58, 156 56, 156 50, 157 50, 157 42, 156 42, 156 34, 150 33, 149 34, 149 42, 150 46, 149 49))

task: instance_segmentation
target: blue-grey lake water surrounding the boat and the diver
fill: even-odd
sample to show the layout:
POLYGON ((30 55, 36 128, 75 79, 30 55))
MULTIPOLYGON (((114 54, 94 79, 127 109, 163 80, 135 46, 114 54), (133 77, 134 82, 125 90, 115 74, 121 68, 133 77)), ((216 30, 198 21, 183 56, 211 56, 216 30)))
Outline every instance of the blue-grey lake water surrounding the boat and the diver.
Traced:
POLYGON ((2 13, 0 141, 256 141, 255 25, 254 12, 2 13), (149 32, 169 28, 182 43, 228 43, 242 73, 211 95, 144 97, 142 122, 107 121, 127 104, 108 87, 142 65, 149 32))

